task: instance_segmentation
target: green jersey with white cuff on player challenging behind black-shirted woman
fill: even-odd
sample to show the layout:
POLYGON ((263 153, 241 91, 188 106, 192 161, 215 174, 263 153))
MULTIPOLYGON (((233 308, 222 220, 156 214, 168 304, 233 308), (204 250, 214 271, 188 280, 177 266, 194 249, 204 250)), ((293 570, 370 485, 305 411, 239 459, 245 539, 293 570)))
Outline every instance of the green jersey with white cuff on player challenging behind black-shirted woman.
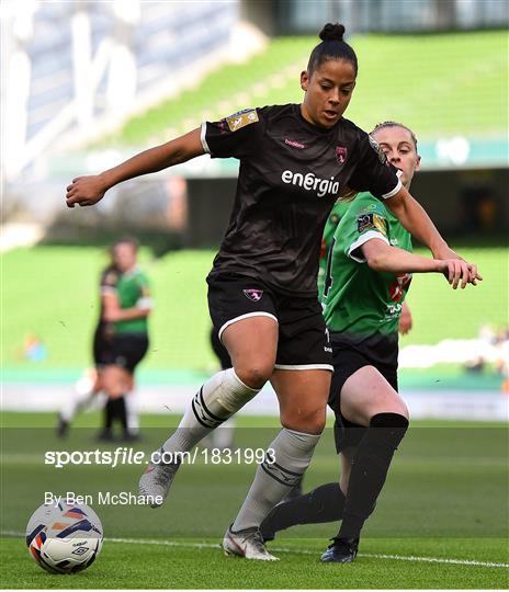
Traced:
POLYGON ((361 193, 336 229, 323 296, 329 330, 339 333, 341 342, 367 350, 383 335, 397 342, 401 305, 411 281, 411 274, 376 272, 365 263, 360 247, 372 238, 412 250, 411 236, 398 219, 380 200, 361 193))

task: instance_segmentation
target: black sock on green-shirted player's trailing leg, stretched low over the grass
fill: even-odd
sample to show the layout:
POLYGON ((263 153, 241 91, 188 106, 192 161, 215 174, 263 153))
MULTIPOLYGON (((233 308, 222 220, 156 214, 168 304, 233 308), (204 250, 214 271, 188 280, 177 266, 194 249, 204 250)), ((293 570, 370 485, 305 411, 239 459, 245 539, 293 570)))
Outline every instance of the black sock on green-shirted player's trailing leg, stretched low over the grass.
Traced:
POLYGON ((344 496, 339 483, 317 487, 305 496, 298 496, 276 505, 261 524, 262 534, 273 536, 295 524, 318 524, 341 520, 344 496))

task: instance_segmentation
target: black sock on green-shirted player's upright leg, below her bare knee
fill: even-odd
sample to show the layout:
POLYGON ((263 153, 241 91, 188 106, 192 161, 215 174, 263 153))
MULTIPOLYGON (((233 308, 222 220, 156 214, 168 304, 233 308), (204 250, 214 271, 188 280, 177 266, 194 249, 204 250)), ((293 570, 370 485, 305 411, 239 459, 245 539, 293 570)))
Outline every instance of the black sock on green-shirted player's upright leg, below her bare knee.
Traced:
POLYGON ((378 413, 371 419, 353 457, 338 538, 359 538, 407 429, 408 420, 398 413, 378 413))

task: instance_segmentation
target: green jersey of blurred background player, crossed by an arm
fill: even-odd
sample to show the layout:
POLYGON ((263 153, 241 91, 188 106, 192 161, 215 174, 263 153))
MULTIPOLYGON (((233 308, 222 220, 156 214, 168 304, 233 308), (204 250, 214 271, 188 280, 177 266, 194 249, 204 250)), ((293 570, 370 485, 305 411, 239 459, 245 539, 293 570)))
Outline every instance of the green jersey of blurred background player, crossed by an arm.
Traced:
MULTIPOLYGON (((137 267, 116 275, 116 282, 111 285, 118 298, 121 308, 134 308, 140 298, 149 296, 147 276, 137 267)), ((115 334, 147 333, 147 317, 116 321, 112 323, 115 334)))

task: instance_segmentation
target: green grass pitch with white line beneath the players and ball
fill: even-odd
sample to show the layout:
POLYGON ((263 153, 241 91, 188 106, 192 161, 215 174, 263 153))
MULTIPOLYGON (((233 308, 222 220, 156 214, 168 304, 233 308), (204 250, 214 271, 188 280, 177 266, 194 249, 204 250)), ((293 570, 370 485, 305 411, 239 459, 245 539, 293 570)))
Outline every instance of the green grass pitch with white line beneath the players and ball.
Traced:
MULTIPOLYGON (((99 418, 81 417, 63 443, 50 414, 2 417, 1 584, 26 589, 351 589, 508 587, 507 444, 496 423, 414 422, 397 452, 374 515, 349 566, 323 565, 319 555, 336 525, 298 526, 269 544, 278 563, 224 557, 218 544, 246 494, 255 465, 183 466, 163 508, 93 505, 104 547, 89 570, 50 576, 29 556, 23 536, 44 491, 135 491, 138 466, 44 465, 44 452, 95 449, 99 418)), ((174 417, 144 417, 149 452, 174 417)), ((263 447, 275 420, 240 418, 236 445, 263 447)), ((115 445, 102 449, 113 449, 115 445)), ((305 480, 305 490, 337 478, 327 430, 305 480)))

